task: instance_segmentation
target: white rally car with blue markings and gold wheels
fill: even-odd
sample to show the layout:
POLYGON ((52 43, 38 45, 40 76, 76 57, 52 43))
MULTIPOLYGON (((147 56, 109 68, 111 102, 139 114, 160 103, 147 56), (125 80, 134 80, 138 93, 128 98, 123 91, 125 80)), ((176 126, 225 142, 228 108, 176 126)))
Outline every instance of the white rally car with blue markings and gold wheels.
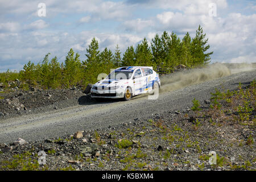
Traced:
POLYGON ((159 75, 152 67, 121 67, 94 84, 90 94, 92 98, 124 98, 128 101, 159 87, 159 75))

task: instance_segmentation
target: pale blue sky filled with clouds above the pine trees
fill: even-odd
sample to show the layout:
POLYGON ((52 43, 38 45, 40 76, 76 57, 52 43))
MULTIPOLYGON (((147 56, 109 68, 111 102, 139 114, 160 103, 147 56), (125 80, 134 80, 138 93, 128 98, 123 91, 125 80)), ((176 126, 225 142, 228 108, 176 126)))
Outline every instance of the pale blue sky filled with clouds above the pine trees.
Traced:
POLYGON ((255 22, 253 0, 0 0, 0 72, 19 71, 29 60, 37 64, 48 52, 64 61, 70 48, 85 60, 94 36, 101 51, 114 51, 118 44, 125 52, 163 31, 193 37, 199 24, 214 51, 213 63, 252 63, 255 22), (46 5, 46 16, 38 16, 39 3, 46 5), (212 3, 216 16, 209 15, 212 3))

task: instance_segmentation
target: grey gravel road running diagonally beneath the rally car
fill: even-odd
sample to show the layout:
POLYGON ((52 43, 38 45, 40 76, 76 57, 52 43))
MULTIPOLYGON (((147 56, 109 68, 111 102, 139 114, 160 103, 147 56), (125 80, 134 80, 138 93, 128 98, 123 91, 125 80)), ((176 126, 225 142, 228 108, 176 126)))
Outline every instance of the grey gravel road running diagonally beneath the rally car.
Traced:
MULTIPOLYGON (((64 109, 48 110, 20 117, 0 120, 0 141, 13 142, 18 138, 27 141, 42 141, 47 138, 74 134, 76 131, 114 127, 118 123, 129 123, 147 119, 164 111, 179 111, 192 106, 193 98, 204 103, 214 88, 235 89, 238 84, 248 84, 256 78, 256 72, 238 72, 213 80, 180 86, 176 90, 160 91, 157 100, 147 96, 134 97, 131 101, 107 100, 102 102, 80 102, 64 109)), ((84 97, 84 96, 81 96, 84 97)), ((81 100, 80 97, 80 100, 81 100)))

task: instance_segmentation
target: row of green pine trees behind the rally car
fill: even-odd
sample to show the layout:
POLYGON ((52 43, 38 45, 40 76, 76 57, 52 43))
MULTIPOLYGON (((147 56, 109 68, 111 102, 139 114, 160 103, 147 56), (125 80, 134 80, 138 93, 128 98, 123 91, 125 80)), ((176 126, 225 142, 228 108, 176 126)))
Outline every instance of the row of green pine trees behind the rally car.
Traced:
POLYGON ((108 74, 110 69, 130 66, 152 66, 158 73, 170 73, 177 65, 183 64, 187 68, 198 67, 210 63, 208 39, 199 26, 196 35, 191 38, 189 33, 180 39, 177 34, 166 31, 162 35, 156 34, 149 43, 146 38, 136 47, 127 47, 122 52, 117 45, 112 52, 107 47, 99 50, 96 38, 86 48, 86 59, 80 60, 79 53, 71 48, 64 63, 59 63, 57 57, 49 60, 50 53, 44 57, 42 63, 34 64, 28 61, 19 73, 0 73, 0 82, 19 78, 25 87, 40 86, 44 89, 71 88, 72 86, 86 86, 97 81, 100 73, 108 74), (8 76, 9 75, 9 76, 8 76))

